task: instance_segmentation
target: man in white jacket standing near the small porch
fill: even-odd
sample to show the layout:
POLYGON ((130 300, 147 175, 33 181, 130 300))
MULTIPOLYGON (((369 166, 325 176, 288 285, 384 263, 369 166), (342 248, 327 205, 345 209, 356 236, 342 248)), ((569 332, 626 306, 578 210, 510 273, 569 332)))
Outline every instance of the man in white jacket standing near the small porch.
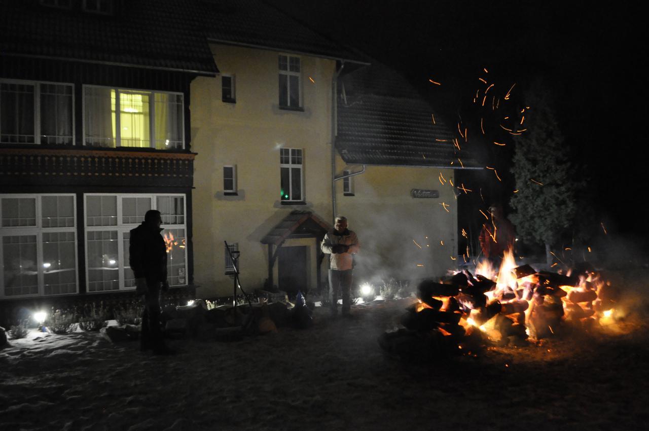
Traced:
POLYGON ((351 306, 352 270, 354 256, 360 250, 360 242, 353 230, 347 228, 347 218, 336 216, 334 230, 324 235, 320 244, 323 253, 331 254, 329 259, 329 293, 331 314, 338 314, 338 297, 343 297, 343 315, 349 315, 351 306))

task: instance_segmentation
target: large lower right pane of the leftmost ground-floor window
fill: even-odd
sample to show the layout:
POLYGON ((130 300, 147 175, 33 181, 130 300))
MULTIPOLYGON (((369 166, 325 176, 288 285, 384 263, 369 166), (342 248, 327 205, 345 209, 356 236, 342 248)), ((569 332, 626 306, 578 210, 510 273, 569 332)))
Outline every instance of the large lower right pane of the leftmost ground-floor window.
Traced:
POLYGON ((43 232, 45 295, 77 292, 75 232, 43 232))

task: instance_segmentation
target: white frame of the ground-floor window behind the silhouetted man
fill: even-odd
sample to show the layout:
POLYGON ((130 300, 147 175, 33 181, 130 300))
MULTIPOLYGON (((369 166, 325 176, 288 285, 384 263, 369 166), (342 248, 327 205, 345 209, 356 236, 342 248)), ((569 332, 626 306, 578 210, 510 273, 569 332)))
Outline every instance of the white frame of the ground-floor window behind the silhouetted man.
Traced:
MULTIPOLYGON (((184 223, 182 225, 169 225, 163 223, 163 227, 165 230, 171 230, 171 229, 184 229, 185 231, 185 238, 188 238, 188 230, 187 230, 187 195, 185 193, 84 193, 83 196, 83 223, 84 223, 84 237, 86 243, 84 244, 86 255, 84 256, 86 260, 86 292, 87 293, 104 293, 104 292, 116 292, 116 291, 134 291, 135 286, 125 286, 125 269, 129 266, 129 262, 125 262, 125 256, 124 256, 124 233, 125 232, 130 232, 132 228, 136 228, 140 226, 141 221, 138 223, 123 223, 123 211, 122 211, 122 199, 125 197, 145 197, 145 198, 150 198, 151 199, 151 209, 155 210, 157 207, 157 197, 183 197, 183 214, 184 214, 184 223), (88 216, 87 216, 87 211, 88 211, 88 206, 87 206, 87 200, 89 196, 116 196, 117 198, 117 225, 110 225, 110 226, 88 226, 88 216), (90 286, 88 285, 88 280, 90 279, 88 276, 88 232, 109 232, 109 231, 117 231, 117 265, 119 267, 119 288, 118 289, 112 289, 112 290, 101 290, 101 291, 90 291, 90 286)), ((162 232, 161 232, 162 233, 162 232)), ((187 247, 184 247, 185 251, 185 283, 184 284, 173 284, 172 286, 187 286, 188 283, 188 278, 187 278, 187 271, 188 271, 188 252, 187 252, 187 247)), ((167 277, 169 275, 167 274, 167 277)))

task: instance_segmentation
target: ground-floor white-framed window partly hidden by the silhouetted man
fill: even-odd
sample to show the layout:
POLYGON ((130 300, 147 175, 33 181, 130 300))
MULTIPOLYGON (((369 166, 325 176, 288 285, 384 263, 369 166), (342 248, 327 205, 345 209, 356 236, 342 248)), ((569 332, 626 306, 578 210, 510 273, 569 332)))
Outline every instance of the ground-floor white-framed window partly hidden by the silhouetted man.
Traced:
POLYGON ((135 288, 129 266, 130 230, 140 225, 148 210, 162 216, 169 285, 187 284, 185 195, 89 193, 84 205, 89 292, 135 288))

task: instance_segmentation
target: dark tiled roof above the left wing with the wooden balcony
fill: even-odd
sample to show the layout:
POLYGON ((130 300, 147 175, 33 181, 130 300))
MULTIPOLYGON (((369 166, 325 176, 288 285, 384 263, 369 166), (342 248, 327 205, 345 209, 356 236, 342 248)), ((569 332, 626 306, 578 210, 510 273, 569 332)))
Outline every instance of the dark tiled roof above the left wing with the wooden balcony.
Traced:
POLYGON ((218 70, 191 1, 123 1, 120 14, 105 16, 0 0, 0 53, 213 75, 218 70))

